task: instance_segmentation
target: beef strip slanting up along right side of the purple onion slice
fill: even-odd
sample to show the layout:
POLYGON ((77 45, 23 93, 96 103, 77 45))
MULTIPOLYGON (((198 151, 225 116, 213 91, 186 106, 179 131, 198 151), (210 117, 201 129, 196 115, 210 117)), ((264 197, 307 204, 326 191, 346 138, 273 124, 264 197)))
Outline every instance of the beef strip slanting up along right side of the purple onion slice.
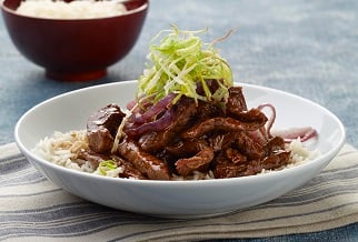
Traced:
POLYGON ((147 152, 157 152, 163 149, 187 128, 197 111, 196 103, 192 99, 181 98, 176 105, 175 118, 172 123, 165 130, 149 132, 139 138, 140 148, 147 152))

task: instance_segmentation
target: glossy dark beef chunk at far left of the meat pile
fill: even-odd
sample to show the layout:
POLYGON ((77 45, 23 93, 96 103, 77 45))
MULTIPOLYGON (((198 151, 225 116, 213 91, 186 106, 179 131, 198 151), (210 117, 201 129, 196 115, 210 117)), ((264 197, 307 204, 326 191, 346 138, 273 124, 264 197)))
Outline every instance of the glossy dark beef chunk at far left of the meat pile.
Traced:
POLYGON ((117 104, 108 104, 90 115, 87 122, 90 149, 98 153, 109 152, 125 115, 117 104))

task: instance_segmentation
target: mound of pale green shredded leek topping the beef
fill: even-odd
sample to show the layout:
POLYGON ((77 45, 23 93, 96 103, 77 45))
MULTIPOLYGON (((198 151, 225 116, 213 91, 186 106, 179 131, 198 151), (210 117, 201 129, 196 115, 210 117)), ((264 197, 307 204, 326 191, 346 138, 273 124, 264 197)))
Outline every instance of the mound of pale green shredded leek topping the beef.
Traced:
POLYGON ((213 48, 215 42, 205 43, 198 37, 206 31, 179 30, 175 26, 171 30, 160 31, 150 42, 148 59, 151 64, 147 64, 143 74, 139 77, 137 99, 156 97, 156 102, 175 93, 177 97, 173 102, 181 95, 192 98, 196 102, 226 101, 228 88, 233 84, 232 72, 213 48), (211 93, 206 80, 217 80, 219 89, 211 93), (199 83, 203 94, 197 93, 199 83))

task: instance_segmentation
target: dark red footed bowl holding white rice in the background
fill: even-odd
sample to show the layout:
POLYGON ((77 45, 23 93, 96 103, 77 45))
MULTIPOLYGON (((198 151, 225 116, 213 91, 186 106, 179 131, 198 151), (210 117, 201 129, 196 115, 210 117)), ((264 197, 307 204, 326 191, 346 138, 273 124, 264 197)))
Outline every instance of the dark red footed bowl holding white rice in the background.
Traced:
POLYGON ((98 19, 42 19, 16 12, 21 0, 4 0, 2 16, 18 50, 46 69, 48 78, 88 81, 105 77, 107 68, 135 46, 149 1, 125 2, 127 14, 98 19))

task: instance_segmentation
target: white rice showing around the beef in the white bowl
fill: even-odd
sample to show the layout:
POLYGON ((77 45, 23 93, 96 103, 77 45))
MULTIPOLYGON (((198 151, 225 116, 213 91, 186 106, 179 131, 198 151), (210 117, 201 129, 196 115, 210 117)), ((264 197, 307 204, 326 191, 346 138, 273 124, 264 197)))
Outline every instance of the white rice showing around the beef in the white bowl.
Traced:
MULTIPOLYGON (((78 158, 81 149, 88 149, 88 139, 86 130, 70 131, 70 132, 54 132, 51 137, 41 140, 33 152, 43 158, 44 160, 54 164, 95 174, 103 175, 103 173, 89 161, 78 158)), ((305 148, 299 140, 294 140, 287 144, 287 150, 291 151, 290 163, 284 168, 276 170, 262 170, 261 173, 268 173, 286 168, 296 167, 315 159, 319 153, 318 151, 310 151, 305 148)), ((107 170, 106 177, 118 178, 123 172, 121 167, 113 170, 107 170)), ((207 180, 213 179, 212 172, 201 173, 195 172, 191 177, 182 178, 175 177, 173 180, 207 180)))

